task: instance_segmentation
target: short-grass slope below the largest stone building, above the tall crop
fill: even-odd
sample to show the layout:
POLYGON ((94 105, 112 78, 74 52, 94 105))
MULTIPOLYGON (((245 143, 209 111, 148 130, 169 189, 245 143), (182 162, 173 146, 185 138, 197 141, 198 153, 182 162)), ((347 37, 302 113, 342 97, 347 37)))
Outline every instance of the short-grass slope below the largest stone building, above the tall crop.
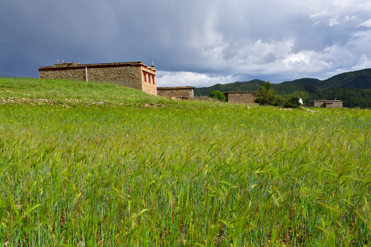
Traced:
MULTIPOLYGON (((34 78, 0 78, 1 103, 175 108, 222 106, 216 102, 177 102, 116 84, 34 78)), ((231 105, 224 104, 223 107, 231 107, 231 105)))

